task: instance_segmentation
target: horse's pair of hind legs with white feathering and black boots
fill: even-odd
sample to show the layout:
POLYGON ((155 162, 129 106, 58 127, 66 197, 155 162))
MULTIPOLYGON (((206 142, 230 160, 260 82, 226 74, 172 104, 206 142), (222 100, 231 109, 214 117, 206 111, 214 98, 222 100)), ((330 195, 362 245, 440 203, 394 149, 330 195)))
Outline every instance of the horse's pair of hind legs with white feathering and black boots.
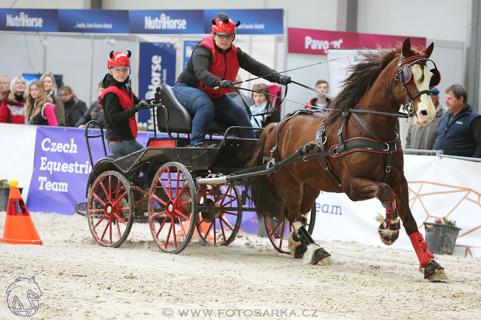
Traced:
POLYGON ((312 209, 312 205, 316 197, 319 195, 319 190, 301 183, 299 183, 299 185, 292 185, 289 190, 279 186, 278 189, 284 195, 288 211, 287 218, 291 221, 295 231, 290 235, 290 237, 292 237, 292 240, 290 241, 291 247, 297 249, 299 253, 302 248, 300 248, 299 245, 292 243, 296 242, 296 244, 302 244, 305 249, 305 252, 303 253, 303 261, 305 263, 329 265, 330 254, 314 241, 311 234, 309 234, 304 226, 307 215, 306 212, 309 212, 312 209))

